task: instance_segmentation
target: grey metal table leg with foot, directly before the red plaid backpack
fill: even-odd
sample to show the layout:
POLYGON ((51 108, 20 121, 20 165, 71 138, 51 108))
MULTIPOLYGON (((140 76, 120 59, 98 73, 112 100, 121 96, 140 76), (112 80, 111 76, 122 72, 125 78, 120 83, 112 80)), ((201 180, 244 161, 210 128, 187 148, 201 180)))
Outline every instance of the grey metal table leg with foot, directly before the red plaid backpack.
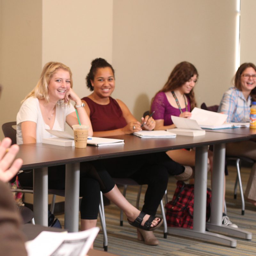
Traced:
POLYGON ((236 247, 235 239, 205 231, 207 195, 207 158, 207 146, 196 148, 193 229, 171 227, 168 228, 168 233, 179 236, 189 236, 193 238, 212 240, 214 242, 230 245, 231 247, 236 247))

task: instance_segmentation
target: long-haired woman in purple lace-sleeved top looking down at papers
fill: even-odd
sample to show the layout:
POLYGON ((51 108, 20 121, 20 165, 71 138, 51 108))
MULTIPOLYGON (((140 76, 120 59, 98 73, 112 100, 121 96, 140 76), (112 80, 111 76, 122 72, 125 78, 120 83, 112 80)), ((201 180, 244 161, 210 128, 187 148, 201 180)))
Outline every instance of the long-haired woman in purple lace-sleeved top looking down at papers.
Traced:
MULTIPOLYGON (((156 119, 156 130, 175 128, 171 116, 191 117, 191 110, 196 107, 195 93, 193 89, 197 79, 197 69, 193 64, 187 61, 180 62, 173 68, 164 87, 156 93, 152 101, 151 111, 155 111, 153 117, 156 119)), ((196 151, 193 149, 171 150, 168 151, 167 154, 179 164, 195 166, 196 151)), ((212 170, 211 151, 208 151, 208 157, 211 166, 210 170, 212 170)), ((222 224, 237 228, 236 224, 233 224, 224 213, 225 193, 223 196, 222 224)))

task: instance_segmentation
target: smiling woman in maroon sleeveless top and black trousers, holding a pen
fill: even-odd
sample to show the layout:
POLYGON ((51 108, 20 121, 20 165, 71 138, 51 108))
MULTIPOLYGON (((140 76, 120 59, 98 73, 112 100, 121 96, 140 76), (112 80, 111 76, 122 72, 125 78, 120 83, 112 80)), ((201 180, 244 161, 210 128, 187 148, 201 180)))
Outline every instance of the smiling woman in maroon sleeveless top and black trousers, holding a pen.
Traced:
MULTIPOLYGON (((92 61, 86 81, 87 87, 93 92, 82 101, 91 119, 93 136, 108 137, 154 129, 156 122, 152 117, 142 118, 144 125, 141 128, 141 123, 135 119, 124 102, 110 97, 115 89, 115 76, 114 69, 106 60, 98 58, 92 61)), ((112 177, 129 177, 139 184, 148 184, 142 211, 150 215, 156 214, 163 198, 168 172, 178 175, 185 170, 184 166, 172 161, 164 152, 105 159, 100 160, 100 163, 112 177)), ((159 243, 152 231, 138 229, 138 239, 149 245, 159 243)))

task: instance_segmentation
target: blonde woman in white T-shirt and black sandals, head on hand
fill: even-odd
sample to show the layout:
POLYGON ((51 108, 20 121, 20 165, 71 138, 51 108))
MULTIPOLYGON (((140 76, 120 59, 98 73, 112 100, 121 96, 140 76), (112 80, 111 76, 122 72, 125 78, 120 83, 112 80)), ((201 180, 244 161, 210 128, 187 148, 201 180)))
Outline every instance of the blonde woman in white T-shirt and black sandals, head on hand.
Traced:
MULTIPOLYGON (((17 143, 42 142, 43 138, 53 136, 45 129, 64 131, 65 123, 70 126, 78 124, 75 108, 69 104, 69 100, 76 102, 80 122, 90 126, 88 135, 92 136, 90 119, 72 87, 70 68, 59 62, 45 64, 40 80, 33 91, 27 95, 17 114, 17 143)), ((48 170, 48 187, 64 189, 65 165, 49 167, 48 170)), ((97 161, 93 164, 81 163, 80 196, 83 196, 80 207, 81 230, 96 226, 100 204, 100 184, 97 180, 97 172, 103 173, 109 181, 108 186, 102 188, 105 196, 119 206, 131 222, 135 221, 140 211, 124 198, 102 165, 97 161)), ((31 187, 33 186, 33 173, 21 173, 19 180, 22 186, 31 187)), ((141 217, 138 227, 151 230, 158 228, 161 223, 161 219, 146 214, 141 217), (145 223, 147 225, 144 225, 145 223)))

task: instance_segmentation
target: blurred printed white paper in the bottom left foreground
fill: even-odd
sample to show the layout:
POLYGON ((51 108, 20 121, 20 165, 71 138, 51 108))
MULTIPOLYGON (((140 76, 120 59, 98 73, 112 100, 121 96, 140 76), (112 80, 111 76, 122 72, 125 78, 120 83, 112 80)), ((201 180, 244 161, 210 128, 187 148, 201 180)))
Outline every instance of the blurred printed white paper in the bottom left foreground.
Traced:
POLYGON ((99 230, 96 227, 74 233, 43 231, 25 246, 28 256, 84 256, 99 230))

